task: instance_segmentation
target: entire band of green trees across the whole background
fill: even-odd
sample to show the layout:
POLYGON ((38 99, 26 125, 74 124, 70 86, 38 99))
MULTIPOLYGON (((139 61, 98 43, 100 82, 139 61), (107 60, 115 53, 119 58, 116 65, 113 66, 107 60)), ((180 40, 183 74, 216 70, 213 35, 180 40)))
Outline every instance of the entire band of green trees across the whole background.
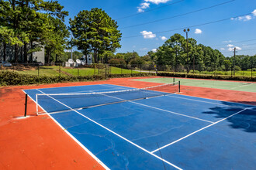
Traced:
POLYGON ((46 63, 67 61, 71 49, 74 59, 92 54, 93 63, 115 65, 158 65, 171 70, 248 70, 255 68, 256 56, 225 57, 217 49, 197 44, 195 39, 174 34, 157 48, 139 56, 137 52, 116 53, 122 37, 117 22, 101 8, 78 12, 64 24, 68 12, 57 1, 0 0, 0 41, 4 60, 6 46, 14 49, 14 61, 33 62, 33 52, 45 49, 46 63), (69 36, 73 39, 69 39, 69 36), (19 51, 22 59, 19 60, 19 51))

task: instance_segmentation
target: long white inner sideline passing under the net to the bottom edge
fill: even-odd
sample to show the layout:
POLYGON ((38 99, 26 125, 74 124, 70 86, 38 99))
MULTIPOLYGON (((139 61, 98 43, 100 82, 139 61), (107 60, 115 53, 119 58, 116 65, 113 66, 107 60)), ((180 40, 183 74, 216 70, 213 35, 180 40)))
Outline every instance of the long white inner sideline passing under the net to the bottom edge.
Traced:
MULTIPOLYGON (((38 90, 38 89, 37 89, 37 90, 38 90)), ((40 91, 41 93, 43 93, 43 91, 41 91, 41 90, 38 90, 38 91, 40 91)), ((44 93, 44 94, 46 94, 46 93, 44 93)), ((48 96, 48 97, 50 97, 50 96, 48 96)), ((54 97, 50 97, 50 98, 54 99, 54 97)), ((54 99, 54 100, 56 100, 56 99, 54 99)), ((73 110, 73 111, 74 111, 74 112, 76 112, 77 114, 80 114, 82 117, 87 118, 89 121, 92 121, 93 123, 98 124, 100 127, 102 127, 102 128, 104 128, 104 129, 106 129, 107 131, 110 131, 112 134, 116 134, 116 136, 118 136, 119 138, 122 138, 123 140, 128 141, 130 144, 132 144, 132 145, 136 146, 137 148, 140 148, 141 150, 143 150, 143 151, 147 152, 148 154, 150 154, 150 155, 154 156, 155 158, 160 159, 162 162, 165 162, 165 163, 167 163, 168 165, 171 165, 171 166, 173 166, 173 167, 175 167, 175 168, 177 168, 177 169, 182 170, 182 168, 179 168, 178 166, 176 166, 176 165, 172 164, 171 162, 168 162, 168 161, 166 161, 165 159, 160 158, 160 157, 159 157, 159 156, 157 156, 157 155, 154 155, 154 154, 153 154, 153 153, 151 153, 150 151, 147 151, 146 149, 144 149, 144 148, 140 147, 139 145, 137 145, 137 144, 133 143, 132 141, 129 141, 128 139, 124 138, 124 137, 123 137, 123 136, 121 136, 120 134, 117 134, 116 132, 114 132, 114 131, 110 130, 109 128, 106 128, 106 127, 105 127, 105 126, 103 126, 102 124, 99 124, 98 122, 93 121, 91 118, 86 117, 84 114, 81 114, 80 112, 78 112, 77 110, 72 109, 71 107, 67 106, 66 104, 61 103, 61 101, 59 101, 59 100, 56 100, 56 101, 57 101, 58 103, 60 103, 60 104, 64 105, 65 107, 67 107, 67 108, 69 108, 69 109, 73 110)))

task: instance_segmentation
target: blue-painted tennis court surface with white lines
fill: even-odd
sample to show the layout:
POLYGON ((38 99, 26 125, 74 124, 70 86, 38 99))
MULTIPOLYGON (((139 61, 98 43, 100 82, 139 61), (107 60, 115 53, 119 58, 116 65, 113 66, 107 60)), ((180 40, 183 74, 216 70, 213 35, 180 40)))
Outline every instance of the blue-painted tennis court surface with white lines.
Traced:
MULTIPOLYGON (((116 90, 133 88, 101 84, 24 91, 36 101, 36 93, 116 90)), ((38 96, 38 104, 107 169, 255 169, 256 107, 169 93, 74 109, 123 97, 130 99, 111 93, 82 100, 38 96)))

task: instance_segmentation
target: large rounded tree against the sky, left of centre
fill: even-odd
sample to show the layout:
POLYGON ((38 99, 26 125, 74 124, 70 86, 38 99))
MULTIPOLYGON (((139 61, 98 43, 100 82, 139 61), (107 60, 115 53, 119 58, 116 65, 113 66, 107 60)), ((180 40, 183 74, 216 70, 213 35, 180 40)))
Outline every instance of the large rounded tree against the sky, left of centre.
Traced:
POLYGON ((95 63, 99 63, 99 54, 104 51, 114 53, 121 47, 117 22, 100 8, 79 12, 74 19, 70 19, 69 29, 74 35, 73 45, 85 54, 93 52, 95 63))

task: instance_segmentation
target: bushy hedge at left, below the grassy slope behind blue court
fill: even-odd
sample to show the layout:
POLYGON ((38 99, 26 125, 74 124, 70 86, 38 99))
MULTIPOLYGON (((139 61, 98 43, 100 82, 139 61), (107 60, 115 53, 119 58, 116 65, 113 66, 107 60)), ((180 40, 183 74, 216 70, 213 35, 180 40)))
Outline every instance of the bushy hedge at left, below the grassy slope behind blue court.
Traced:
POLYGON ((102 76, 30 76, 16 72, 0 72, 0 86, 28 85, 40 83, 63 83, 74 81, 105 80, 102 76))

